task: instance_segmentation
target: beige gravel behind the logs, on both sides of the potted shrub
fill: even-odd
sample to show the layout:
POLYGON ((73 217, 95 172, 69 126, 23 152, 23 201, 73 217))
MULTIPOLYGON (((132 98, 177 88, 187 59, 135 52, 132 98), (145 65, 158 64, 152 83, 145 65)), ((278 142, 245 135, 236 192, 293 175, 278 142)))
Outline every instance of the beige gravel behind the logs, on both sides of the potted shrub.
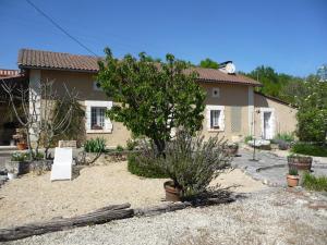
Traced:
MULTIPOLYGON (((49 174, 23 175, 0 188, 0 228, 84 215, 112 204, 153 206, 165 198, 164 179, 133 175, 128 172, 126 162, 84 168, 71 182, 50 182, 49 174)), ((231 188, 234 192, 265 188, 238 169, 221 174, 213 182, 217 183, 223 187, 237 185, 231 188)))

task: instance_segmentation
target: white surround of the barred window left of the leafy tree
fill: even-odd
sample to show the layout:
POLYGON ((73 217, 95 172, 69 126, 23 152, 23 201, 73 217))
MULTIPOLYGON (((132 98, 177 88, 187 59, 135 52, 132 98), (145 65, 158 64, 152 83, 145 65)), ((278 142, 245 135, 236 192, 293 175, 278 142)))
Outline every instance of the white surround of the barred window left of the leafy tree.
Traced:
POLYGON ((86 107, 86 120, 85 120, 85 128, 87 134, 102 134, 102 133, 112 133, 112 123, 110 119, 105 117, 105 128, 102 130, 92 130, 92 108, 107 108, 110 109, 112 107, 112 101, 98 101, 98 100, 85 100, 86 107))

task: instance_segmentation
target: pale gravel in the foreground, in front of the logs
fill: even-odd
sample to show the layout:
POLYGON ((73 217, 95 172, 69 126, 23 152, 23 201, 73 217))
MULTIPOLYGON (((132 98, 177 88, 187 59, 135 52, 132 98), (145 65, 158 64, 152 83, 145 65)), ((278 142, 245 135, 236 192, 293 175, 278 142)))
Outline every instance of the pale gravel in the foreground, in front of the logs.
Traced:
POLYGON ((33 236, 26 245, 326 244, 327 197, 268 188, 235 203, 33 236))

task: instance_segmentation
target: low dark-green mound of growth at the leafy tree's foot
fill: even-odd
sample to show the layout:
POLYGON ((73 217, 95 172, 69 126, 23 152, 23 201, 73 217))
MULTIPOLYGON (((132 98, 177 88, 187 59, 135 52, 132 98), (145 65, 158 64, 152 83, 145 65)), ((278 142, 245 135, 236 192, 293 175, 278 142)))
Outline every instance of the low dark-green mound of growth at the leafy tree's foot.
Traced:
POLYGON ((162 170, 156 166, 142 164, 138 161, 136 154, 130 154, 128 156, 128 170, 137 176, 165 179, 168 177, 162 170))

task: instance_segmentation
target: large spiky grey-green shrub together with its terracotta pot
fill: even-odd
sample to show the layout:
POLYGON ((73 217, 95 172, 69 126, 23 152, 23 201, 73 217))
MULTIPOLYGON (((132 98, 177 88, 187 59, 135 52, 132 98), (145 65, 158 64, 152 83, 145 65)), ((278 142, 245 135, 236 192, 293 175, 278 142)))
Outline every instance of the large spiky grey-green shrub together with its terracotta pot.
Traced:
POLYGON ((142 150, 138 161, 156 166, 170 179, 164 184, 166 200, 190 200, 205 194, 211 180, 230 167, 225 148, 226 142, 218 136, 205 142, 204 136, 178 132, 173 140, 166 142, 162 155, 152 144, 142 150))

